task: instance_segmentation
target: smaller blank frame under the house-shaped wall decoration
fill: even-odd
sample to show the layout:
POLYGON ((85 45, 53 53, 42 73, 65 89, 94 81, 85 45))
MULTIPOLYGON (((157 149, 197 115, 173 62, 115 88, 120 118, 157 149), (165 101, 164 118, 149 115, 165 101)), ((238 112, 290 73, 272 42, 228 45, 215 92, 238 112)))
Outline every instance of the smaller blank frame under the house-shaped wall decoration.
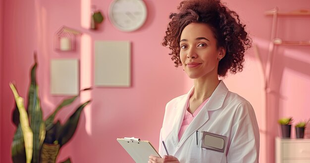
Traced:
POLYGON ((79 94, 79 61, 78 59, 51 60, 51 94, 79 94))

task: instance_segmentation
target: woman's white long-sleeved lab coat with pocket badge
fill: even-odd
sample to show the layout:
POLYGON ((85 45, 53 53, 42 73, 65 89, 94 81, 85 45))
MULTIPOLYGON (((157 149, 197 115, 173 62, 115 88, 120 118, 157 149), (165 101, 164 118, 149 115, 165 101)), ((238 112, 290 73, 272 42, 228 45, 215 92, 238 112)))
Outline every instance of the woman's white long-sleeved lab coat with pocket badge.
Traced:
POLYGON ((178 133, 193 89, 167 103, 159 155, 166 155, 163 140, 169 155, 180 163, 258 163, 259 130, 253 107, 246 99, 228 91, 222 81, 179 141, 178 133), (199 131, 198 145, 196 131, 199 131), (226 136, 224 153, 202 149, 202 131, 226 136))

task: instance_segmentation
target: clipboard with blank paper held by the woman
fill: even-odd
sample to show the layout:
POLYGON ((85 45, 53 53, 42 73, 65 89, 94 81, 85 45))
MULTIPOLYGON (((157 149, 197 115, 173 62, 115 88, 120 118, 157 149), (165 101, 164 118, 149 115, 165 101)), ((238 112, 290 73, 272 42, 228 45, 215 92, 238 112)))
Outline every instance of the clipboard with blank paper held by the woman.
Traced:
POLYGON ((117 138, 116 140, 136 163, 148 163, 151 155, 161 158, 151 142, 147 140, 134 137, 117 138))

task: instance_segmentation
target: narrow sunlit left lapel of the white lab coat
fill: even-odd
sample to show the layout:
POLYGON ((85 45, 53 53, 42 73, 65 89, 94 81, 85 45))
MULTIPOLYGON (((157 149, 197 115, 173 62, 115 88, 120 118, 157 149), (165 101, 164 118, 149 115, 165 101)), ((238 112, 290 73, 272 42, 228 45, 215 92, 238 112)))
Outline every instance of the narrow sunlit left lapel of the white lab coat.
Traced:
POLYGON ((184 119, 185 112, 187 110, 187 101, 189 100, 193 89, 194 87, 192 87, 191 90, 180 100, 178 105, 176 105, 175 110, 177 110, 177 112, 175 114, 175 122, 174 122, 175 125, 173 126, 172 129, 173 140, 176 144, 179 143, 179 137, 178 137, 179 131, 184 119))

